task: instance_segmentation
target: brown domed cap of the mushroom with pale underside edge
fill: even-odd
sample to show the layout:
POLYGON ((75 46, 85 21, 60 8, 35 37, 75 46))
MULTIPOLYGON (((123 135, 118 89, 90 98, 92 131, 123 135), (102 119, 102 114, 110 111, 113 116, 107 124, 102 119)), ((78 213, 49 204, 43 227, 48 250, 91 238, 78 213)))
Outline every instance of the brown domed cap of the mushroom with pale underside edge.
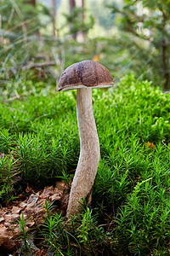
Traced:
POLYGON ((106 67, 95 61, 81 61, 65 69, 59 79, 58 90, 103 88, 113 84, 111 73, 106 67))

